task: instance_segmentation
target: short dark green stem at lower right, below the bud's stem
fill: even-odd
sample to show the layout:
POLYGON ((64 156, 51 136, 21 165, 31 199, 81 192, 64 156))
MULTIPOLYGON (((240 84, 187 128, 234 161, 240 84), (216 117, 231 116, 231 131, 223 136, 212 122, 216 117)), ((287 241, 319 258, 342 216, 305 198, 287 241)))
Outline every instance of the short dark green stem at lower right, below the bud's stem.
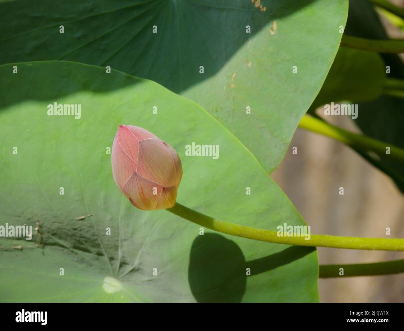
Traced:
POLYGON ((381 276, 404 272, 404 259, 366 264, 327 264, 320 266, 320 278, 381 276), (340 268, 344 274, 340 276, 340 268))

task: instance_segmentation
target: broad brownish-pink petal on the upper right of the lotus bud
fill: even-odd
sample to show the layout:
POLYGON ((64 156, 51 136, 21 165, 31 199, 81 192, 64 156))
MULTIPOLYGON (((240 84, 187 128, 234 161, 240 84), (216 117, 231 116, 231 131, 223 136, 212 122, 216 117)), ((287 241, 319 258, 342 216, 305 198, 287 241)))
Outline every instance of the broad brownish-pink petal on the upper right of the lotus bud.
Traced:
POLYGON ((177 169, 173 158, 158 138, 139 142, 137 173, 164 187, 177 185, 177 169))

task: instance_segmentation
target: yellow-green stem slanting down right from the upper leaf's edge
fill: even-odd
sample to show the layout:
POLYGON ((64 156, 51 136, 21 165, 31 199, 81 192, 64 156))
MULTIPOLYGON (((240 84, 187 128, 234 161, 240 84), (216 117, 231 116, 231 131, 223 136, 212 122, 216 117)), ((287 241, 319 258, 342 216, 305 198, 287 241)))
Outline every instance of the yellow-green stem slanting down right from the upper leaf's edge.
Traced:
POLYGON ((393 160, 404 163, 404 150, 392 145, 391 143, 386 143, 384 141, 370 138, 366 135, 359 135, 340 129, 337 126, 328 124, 327 122, 318 120, 309 115, 303 116, 299 123, 299 127, 341 141, 351 147, 373 151, 380 157, 389 156, 393 160), (390 148, 390 154, 386 154, 387 147, 390 148))

